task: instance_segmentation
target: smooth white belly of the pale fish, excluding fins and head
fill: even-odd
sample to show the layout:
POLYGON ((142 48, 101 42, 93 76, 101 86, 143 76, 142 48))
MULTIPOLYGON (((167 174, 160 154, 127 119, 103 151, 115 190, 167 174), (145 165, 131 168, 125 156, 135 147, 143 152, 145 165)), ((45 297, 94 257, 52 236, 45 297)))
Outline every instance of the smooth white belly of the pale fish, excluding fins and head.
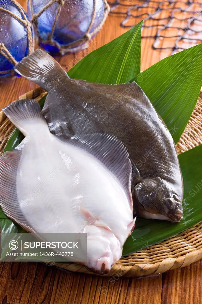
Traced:
POLYGON ((62 142, 44 124, 38 127, 29 126, 17 174, 27 221, 38 233, 81 233, 88 222, 81 209, 86 209, 123 245, 133 217, 120 181, 94 156, 62 142))

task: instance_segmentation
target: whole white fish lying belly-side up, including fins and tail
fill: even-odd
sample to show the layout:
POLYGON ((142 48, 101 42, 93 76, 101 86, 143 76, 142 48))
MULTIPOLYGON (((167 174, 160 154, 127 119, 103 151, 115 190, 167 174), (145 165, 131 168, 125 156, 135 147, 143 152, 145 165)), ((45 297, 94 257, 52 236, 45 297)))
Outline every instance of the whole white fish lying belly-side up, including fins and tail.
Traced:
POLYGON ((86 233, 87 262, 108 272, 134 228, 131 162, 114 136, 59 139, 39 104, 20 100, 3 109, 25 135, 0 157, 0 204, 32 233, 86 233))

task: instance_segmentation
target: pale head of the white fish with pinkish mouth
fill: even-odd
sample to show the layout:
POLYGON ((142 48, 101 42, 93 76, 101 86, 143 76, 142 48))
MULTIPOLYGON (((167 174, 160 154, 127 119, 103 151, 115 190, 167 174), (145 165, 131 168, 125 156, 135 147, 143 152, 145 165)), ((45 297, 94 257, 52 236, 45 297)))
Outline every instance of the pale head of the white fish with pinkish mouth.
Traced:
POLYGON ((87 262, 89 270, 103 275, 108 273, 122 255, 122 246, 108 229, 89 225, 87 233, 87 262))

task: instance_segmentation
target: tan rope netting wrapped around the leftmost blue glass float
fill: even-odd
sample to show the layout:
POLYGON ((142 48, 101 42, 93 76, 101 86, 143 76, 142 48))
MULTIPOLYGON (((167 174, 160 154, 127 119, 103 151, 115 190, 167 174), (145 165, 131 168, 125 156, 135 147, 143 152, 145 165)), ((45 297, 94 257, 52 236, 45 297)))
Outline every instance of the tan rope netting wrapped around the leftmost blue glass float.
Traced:
MULTIPOLYGON (((16 8, 19 10, 19 12, 21 13, 21 15, 24 19, 19 18, 19 16, 15 15, 14 13, 12 13, 2 7, 0 7, 0 11, 8 13, 10 16, 12 16, 16 20, 18 20, 19 23, 21 23, 23 26, 25 26, 25 28, 27 30, 28 52, 29 52, 29 54, 31 54, 34 50, 34 43, 33 43, 33 39, 32 39, 32 30, 31 30, 32 24, 27 19, 27 16, 25 15, 25 12, 23 11, 21 5, 19 5, 19 3, 15 0, 12 0, 12 2, 15 4, 16 8)), ((15 58, 12 56, 12 54, 9 52, 9 50, 5 47, 4 43, 2 43, 2 42, 0 43, 0 54, 3 55, 13 65, 16 65, 18 63, 15 60, 15 58)), ((15 71, 13 69, 7 70, 7 71, 0 71, 0 74, 6 74, 6 73, 11 73, 11 75, 12 75, 15 73, 15 71)))

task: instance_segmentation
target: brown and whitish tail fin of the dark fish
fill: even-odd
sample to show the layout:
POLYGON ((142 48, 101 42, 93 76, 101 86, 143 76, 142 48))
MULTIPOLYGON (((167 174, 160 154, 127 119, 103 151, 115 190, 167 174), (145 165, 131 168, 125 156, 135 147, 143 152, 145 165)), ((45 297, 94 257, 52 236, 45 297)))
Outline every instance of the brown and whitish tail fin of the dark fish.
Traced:
POLYGON ((53 91, 62 78, 69 79, 59 63, 43 50, 36 49, 23 58, 14 70, 40 85, 47 92, 53 91))

